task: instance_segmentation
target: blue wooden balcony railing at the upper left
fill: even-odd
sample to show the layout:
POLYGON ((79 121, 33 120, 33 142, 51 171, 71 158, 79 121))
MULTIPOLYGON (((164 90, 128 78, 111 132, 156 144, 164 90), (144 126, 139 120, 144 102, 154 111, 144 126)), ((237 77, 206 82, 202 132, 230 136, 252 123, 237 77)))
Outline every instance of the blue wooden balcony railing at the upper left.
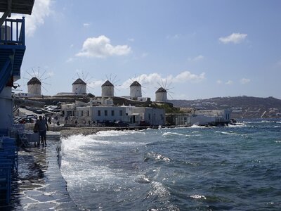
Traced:
POLYGON ((0 44, 25 45, 25 17, 5 20, 1 26, 0 44))

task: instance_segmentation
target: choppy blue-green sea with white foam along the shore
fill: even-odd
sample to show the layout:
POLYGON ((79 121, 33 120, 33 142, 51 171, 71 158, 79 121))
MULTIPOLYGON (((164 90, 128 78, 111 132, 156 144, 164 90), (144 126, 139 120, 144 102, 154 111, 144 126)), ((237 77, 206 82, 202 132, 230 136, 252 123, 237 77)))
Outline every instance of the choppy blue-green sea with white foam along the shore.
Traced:
POLYGON ((281 120, 61 140, 79 210, 281 210, 281 120))

